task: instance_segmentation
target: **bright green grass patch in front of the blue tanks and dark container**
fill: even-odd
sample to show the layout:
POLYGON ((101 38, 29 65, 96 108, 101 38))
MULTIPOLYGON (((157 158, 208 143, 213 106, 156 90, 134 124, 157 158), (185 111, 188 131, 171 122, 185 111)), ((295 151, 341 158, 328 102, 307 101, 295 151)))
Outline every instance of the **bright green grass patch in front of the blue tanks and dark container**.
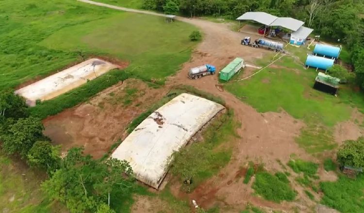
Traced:
POLYGON ((259 112, 284 109, 296 119, 310 122, 314 118, 328 126, 350 118, 352 108, 340 98, 312 88, 317 75, 314 70, 304 70, 292 59, 287 61, 277 65, 296 70, 266 68, 248 80, 226 84, 225 89, 259 112))

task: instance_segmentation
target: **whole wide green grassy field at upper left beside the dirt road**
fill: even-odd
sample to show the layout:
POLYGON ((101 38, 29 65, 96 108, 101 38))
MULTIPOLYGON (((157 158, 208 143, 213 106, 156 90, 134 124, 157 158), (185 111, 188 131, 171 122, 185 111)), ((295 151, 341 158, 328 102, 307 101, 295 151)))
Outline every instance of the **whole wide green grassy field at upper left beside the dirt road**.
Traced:
POLYGON ((195 45, 191 25, 73 0, 2 0, 0 8, 0 90, 80 61, 80 51, 130 61, 127 72, 163 83, 195 45))

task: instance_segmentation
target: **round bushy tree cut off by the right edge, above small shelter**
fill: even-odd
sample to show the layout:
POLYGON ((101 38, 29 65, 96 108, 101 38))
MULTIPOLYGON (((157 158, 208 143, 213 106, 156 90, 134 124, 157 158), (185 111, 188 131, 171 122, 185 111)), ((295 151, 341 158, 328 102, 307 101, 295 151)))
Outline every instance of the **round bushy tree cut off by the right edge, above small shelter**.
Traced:
POLYGON ((364 167, 364 137, 346 140, 337 151, 337 162, 341 166, 364 167))

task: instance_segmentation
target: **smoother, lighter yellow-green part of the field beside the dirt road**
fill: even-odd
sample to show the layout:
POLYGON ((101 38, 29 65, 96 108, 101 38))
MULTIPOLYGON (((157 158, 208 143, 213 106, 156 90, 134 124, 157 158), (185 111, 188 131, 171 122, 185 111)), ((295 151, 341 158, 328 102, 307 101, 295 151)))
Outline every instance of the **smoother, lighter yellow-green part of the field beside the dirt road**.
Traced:
POLYGON ((179 21, 165 24, 162 17, 118 12, 109 18, 58 30, 40 45, 109 54, 131 62, 126 72, 163 84, 165 77, 190 58, 196 45, 188 39, 193 30, 197 29, 179 21), (68 42, 63 42, 65 39, 68 42))

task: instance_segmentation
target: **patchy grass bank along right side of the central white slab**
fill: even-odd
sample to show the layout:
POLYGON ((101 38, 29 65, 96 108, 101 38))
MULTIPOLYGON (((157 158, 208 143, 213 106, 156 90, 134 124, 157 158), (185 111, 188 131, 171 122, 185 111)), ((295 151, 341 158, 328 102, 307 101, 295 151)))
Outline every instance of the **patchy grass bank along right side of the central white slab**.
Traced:
POLYGON ((171 173, 180 177, 192 176, 193 183, 183 184, 183 191, 192 191, 199 183, 215 175, 222 167, 229 163, 232 150, 229 141, 238 137, 235 128, 238 123, 234 121, 231 110, 218 116, 202 133, 202 141, 194 142, 179 152, 175 152, 171 173), (224 143, 224 147, 221 147, 224 143), (199 156, 199 160, 196 160, 199 156), (186 175, 187 173, 187 175, 186 175))

